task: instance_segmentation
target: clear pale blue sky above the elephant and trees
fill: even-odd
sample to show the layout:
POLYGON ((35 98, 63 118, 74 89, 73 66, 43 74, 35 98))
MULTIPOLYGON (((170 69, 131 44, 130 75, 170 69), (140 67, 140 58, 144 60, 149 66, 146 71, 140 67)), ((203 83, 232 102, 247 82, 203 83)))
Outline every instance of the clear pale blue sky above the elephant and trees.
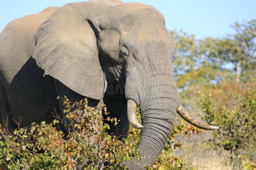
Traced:
MULTIPOLYGON (((1 0, 0 31, 13 19, 38 13, 49 6, 62 6, 74 0, 1 0)), ((222 37, 234 34, 230 27, 235 21, 256 19, 255 0, 123 0, 140 2, 154 6, 165 18, 166 27, 183 29, 195 34, 197 38, 205 36, 222 37)))

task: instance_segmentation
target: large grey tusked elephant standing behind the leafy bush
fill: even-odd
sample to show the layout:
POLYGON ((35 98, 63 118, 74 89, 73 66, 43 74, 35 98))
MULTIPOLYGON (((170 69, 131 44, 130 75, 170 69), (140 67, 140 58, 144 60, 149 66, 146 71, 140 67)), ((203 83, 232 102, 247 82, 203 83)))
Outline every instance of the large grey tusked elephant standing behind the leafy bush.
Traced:
POLYGON ((109 133, 125 135, 130 124, 142 129, 137 149, 144 157, 122 165, 152 165, 177 113, 196 127, 218 129, 181 105, 172 72, 175 48, 163 15, 140 3, 89 0, 15 19, 0 34, 1 121, 10 129, 20 117, 20 127, 49 123, 54 108, 65 117, 57 96, 87 97, 88 105, 104 103, 120 120, 109 133))

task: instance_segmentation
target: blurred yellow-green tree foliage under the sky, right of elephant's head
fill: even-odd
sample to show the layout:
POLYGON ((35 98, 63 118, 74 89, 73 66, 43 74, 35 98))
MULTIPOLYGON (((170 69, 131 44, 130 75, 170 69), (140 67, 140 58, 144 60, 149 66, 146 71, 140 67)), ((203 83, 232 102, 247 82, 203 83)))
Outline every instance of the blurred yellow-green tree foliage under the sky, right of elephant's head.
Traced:
POLYGON ((256 76, 256 20, 232 27, 235 35, 202 40, 184 31, 170 31, 177 46, 173 71, 179 89, 233 79, 245 83, 256 76))

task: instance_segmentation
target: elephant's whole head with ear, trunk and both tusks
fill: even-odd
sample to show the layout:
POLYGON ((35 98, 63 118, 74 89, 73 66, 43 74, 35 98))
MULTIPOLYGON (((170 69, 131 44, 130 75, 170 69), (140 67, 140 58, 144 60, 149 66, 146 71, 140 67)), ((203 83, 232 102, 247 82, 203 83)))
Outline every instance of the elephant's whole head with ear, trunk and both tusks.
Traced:
POLYGON ((118 95, 127 100, 130 124, 142 128, 138 150, 145 155, 139 165, 123 163, 131 169, 155 162, 177 112, 199 128, 217 128, 196 120, 180 104, 172 73, 175 43, 163 15, 152 6, 119 1, 66 4, 39 27, 35 42, 32 57, 37 65, 76 93, 102 99, 107 85, 124 86, 118 95))

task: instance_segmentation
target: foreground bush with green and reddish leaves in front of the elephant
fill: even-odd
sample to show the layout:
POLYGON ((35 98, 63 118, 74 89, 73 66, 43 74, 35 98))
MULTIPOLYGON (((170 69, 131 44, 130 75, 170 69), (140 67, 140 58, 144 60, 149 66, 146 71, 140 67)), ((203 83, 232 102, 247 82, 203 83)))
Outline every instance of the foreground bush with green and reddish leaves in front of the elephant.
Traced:
MULTIPOLYGON (((59 99, 59 97, 58 97, 59 99)), ((101 107, 88 107, 88 100, 71 103, 64 97, 66 105, 64 112, 70 120, 67 125, 70 134, 64 133, 55 126, 60 118, 46 124, 32 123, 28 128, 18 128, 14 131, 0 126, 0 165, 4 169, 74 169, 84 166, 85 169, 124 169, 120 162, 130 159, 135 155, 141 156, 136 151, 140 140, 140 130, 130 127, 127 139, 117 140, 117 137, 106 131, 109 125, 104 123, 103 114, 108 115, 105 105, 101 107), (71 112, 76 108, 77 112, 71 112)), ((140 117, 139 112, 138 116, 140 117)), ((105 121, 119 122, 116 118, 108 117, 105 121)), ((179 124, 174 126, 168 143, 162 154, 149 169, 188 169, 191 165, 184 163, 182 158, 172 156, 172 147, 181 148, 181 144, 174 142, 176 135, 182 133, 197 135, 200 129, 188 125, 185 120, 177 120, 179 124)), ((19 125, 20 122, 17 122, 19 125)))

